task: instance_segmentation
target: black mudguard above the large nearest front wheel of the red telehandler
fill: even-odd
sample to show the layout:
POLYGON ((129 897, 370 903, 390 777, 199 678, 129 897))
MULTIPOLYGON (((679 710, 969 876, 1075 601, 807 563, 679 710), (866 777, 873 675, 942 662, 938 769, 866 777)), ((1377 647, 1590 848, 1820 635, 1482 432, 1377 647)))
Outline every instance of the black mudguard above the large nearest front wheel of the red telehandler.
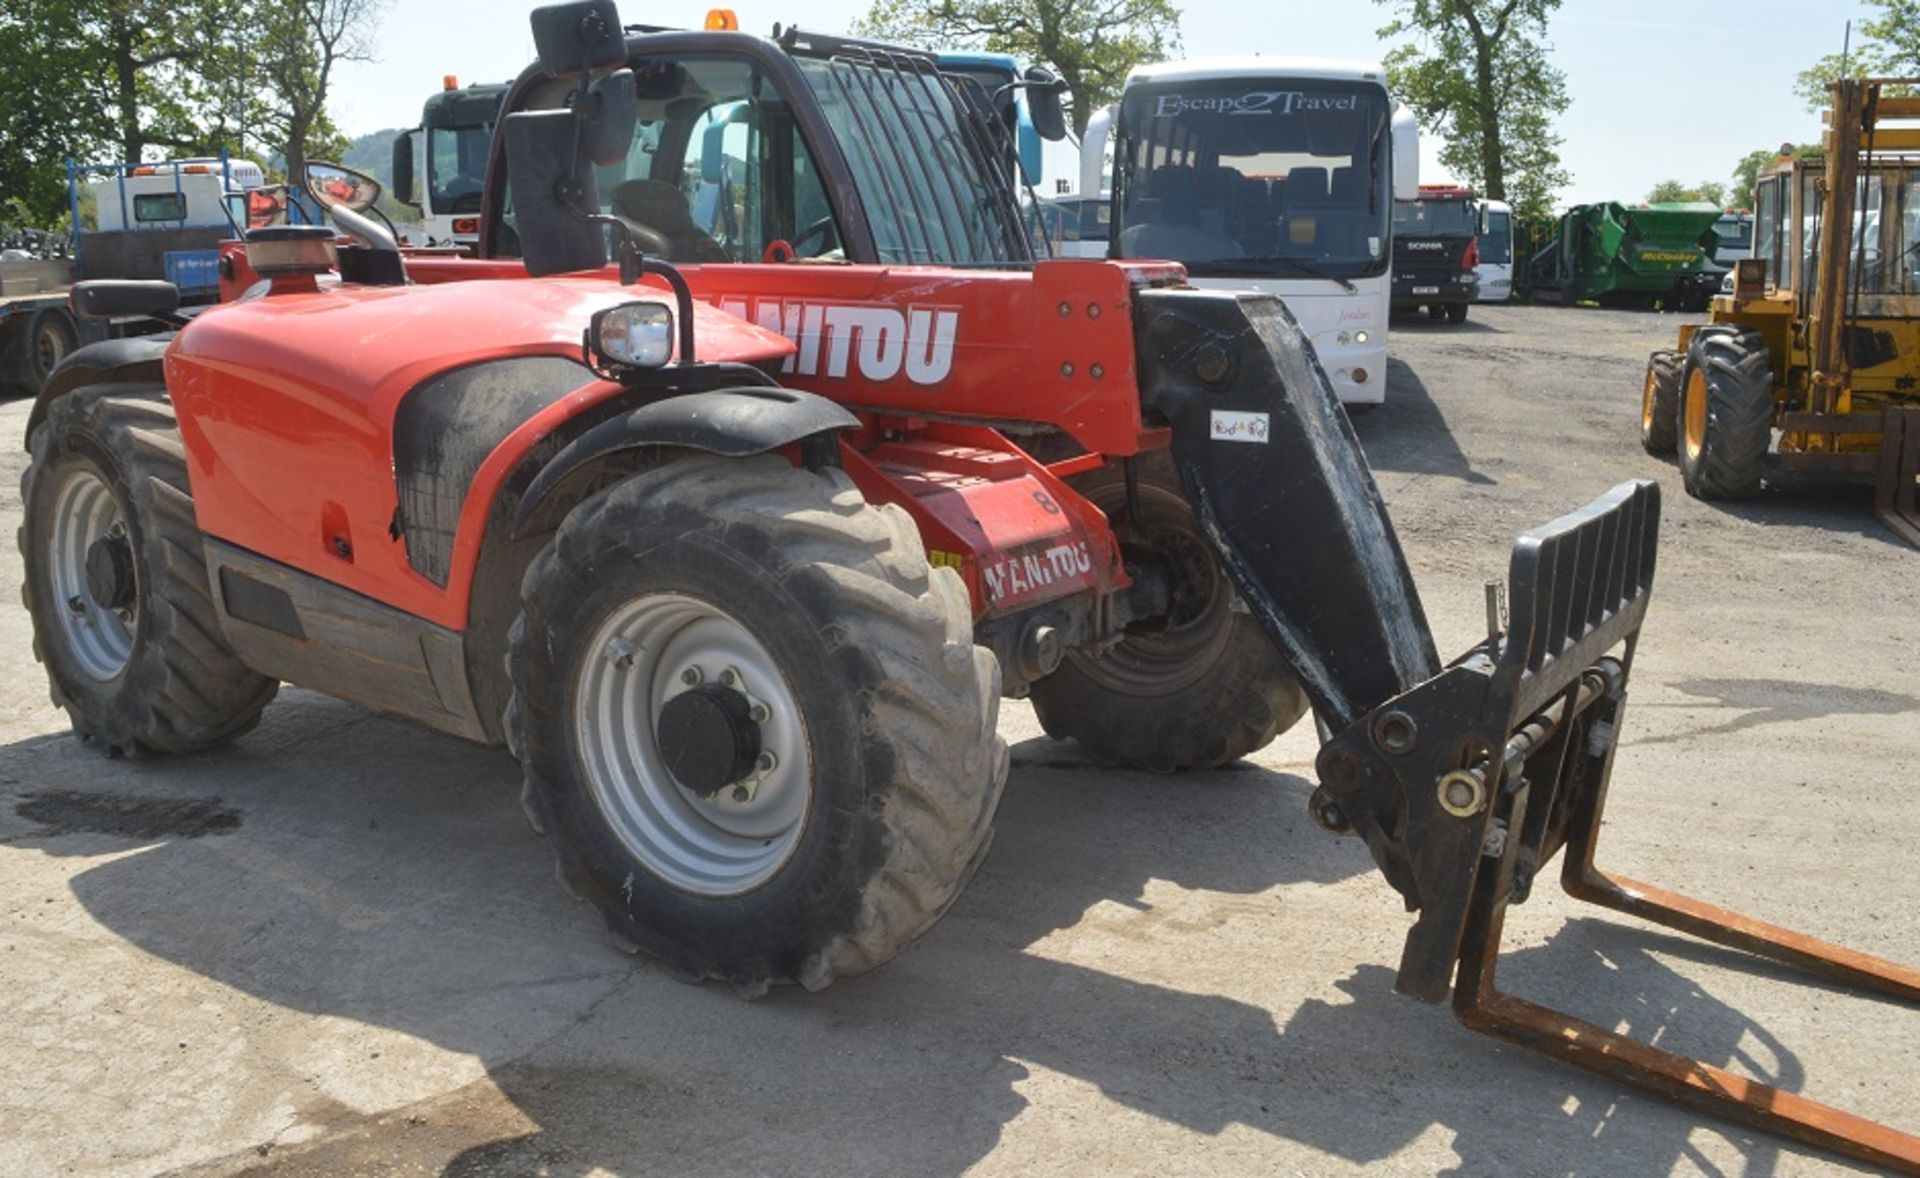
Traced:
POLYGON ((551 520, 593 485, 589 472, 603 459, 628 451, 693 449, 728 459, 764 455, 808 437, 860 428, 841 405, 785 388, 710 389, 662 397, 601 422, 553 457, 520 499, 513 535, 551 520))

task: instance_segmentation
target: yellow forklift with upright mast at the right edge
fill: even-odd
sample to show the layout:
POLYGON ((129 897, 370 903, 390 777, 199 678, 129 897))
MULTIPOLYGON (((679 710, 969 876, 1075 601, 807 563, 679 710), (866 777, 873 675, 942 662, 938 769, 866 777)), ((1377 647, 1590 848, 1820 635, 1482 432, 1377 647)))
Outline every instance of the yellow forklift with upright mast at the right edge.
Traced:
POLYGON ((1640 441, 1678 449, 1695 499, 1778 468, 1874 480, 1874 508, 1920 545, 1920 79, 1830 86, 1822 159, 1753 190, 1753 257, 1709 322, 1647 357, 1640 441), (1778 432, 1778 439, 1776 439, 1778 432))

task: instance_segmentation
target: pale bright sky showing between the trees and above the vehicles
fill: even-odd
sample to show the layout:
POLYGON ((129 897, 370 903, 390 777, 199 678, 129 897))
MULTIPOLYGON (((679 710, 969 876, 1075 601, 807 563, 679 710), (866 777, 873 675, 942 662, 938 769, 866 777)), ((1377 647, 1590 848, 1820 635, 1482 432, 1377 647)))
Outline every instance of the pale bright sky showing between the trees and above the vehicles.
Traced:
MULTIPOLYGON (((1296 54, 1380 58, 1388 10, 1371 0, 1175 0, 1183 58, 1296 54)), ((461 84, 505 81, 534 58, 532 0, 390 0, 378 61, 340 67, 334 119, 348 134, 409 127, 444 75, 461 84), (457 13, 457 15, 455 15, 457 13)), ((799 23, 845 33, 870 0, 766 4, 735 0, 749 33, 799 23)), ((708 4, 622 6, 630 23, 699 27, 708 4)), ((1565 0, 1548 25, 1553 63, 1572 106, 1559 117, 1572 184, 1561 203, 1645 200, 1661 180, 1728 182, 1734 163, 1786 140, 1812 142, 1818 115, 1793 96, 1793 75, 1839 52, 1845 21, 1870 15, 1851 0, 1565 0)), ((1448 178, 1423 136, 1421 180, 1448 178)), ((1066 152, 1048 180, 1073 177, 1066 152)), ((1043 192, 1050 190, 1050 184, 1043 192)))

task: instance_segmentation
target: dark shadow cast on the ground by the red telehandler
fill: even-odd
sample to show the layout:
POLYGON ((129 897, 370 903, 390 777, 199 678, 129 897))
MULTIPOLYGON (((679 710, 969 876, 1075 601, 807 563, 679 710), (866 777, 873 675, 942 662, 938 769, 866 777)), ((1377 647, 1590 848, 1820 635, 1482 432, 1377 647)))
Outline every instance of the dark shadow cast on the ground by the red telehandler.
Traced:
MULTIPOLYGON (((451 1174, 954 1174, 1016 1117, 1054 1115, 1031 1101, 1046 1086, 1098 1090, 1116 1124, 1208 1138, 1240 1126, 1352 1163, 1432 1128, 1452 1134, 1469 1174, 1542 1157, 1574 1159, 1565 1172, 1655 1172, 1692 1157, 1693 1117, 1473 1036, 1396 998, 1384 965, 1356 969, 1338 1000, 1284 967, 1271 986, 1235 986, 1271 1003, 1212 992, 1252 967, 1225 955, 1283 921, 1340 936, 1321 884, 1396 902, 1356 879, 1371 875, 1357 842, 1311 825, 1309 787, 1292 775, 1119 773, 1023 742, 998 842, 927 938, 824 994, 743 1003, 605 948, 597 917, 553 884, 505 754, 288 695, 238 746, 186 762, 100 762, 48 739, 0 750, 12 777, 0 836, 115 856, 71 881, 106 929, 267 1003, 417 1036, 486 1069, 397 1113, 309 1111, 313 1142, 248 1151, 232 1168, 353 1170, 432 1124, 430 1165, 451 1174), (23 785, 54 769, 88 785, 23 785), (1183 892, 1208 896, 1183 904, 1183 892), (1056 944, 1068 927, 1077 936, 1056 944), (1181 961, 1167 952, 1179 938, 1221 948, 1181 961), (1125 961, 1129 977, 1102 961, 1125 961), (474 1117, 488 1101, 507 1115, 474 1117), (1601 1130, 1605 1163, 1590 1149, 1601 1130), (355 1140, 371 1153, 328 1153, 355 1140)), ((1592 921, 1515 954, 1505 980, 1551 1000, 1601 967, 1603 986, 1571 984, 1584 986, 1576 1013, 1684 1036, 1711 1061, 1770 1046, 1644 938, 1592 921)), ((1761 1063, 1797 1084, 1791 1055, 1761 1063)), ((152 1067, 157 1082, 169 1065, 129 1053, 115 1067, 152 1067)), ((300 1099, 298 1067, 276 1080, 300 1099)), ((1772 1142, 1736 1142, 1747 1172, 1772 1168, 1772 1142)))

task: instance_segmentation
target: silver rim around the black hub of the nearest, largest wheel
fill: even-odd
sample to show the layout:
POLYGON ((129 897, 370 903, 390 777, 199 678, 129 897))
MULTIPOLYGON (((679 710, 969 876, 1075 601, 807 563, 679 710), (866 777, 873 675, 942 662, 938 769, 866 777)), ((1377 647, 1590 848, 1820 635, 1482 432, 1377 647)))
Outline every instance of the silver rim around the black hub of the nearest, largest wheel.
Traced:
POLYGON ((634 599, 593 633, 576 687, 588 789, 647 871, 699 896, 737 896, 780 871, 806 827, 812 756, 793 689, 745 625, 693 597, 634 599), (760 764, 774 758, 712 798, 674 781, 655 737, 666 700, 701 683, 756 704, 760 764))

